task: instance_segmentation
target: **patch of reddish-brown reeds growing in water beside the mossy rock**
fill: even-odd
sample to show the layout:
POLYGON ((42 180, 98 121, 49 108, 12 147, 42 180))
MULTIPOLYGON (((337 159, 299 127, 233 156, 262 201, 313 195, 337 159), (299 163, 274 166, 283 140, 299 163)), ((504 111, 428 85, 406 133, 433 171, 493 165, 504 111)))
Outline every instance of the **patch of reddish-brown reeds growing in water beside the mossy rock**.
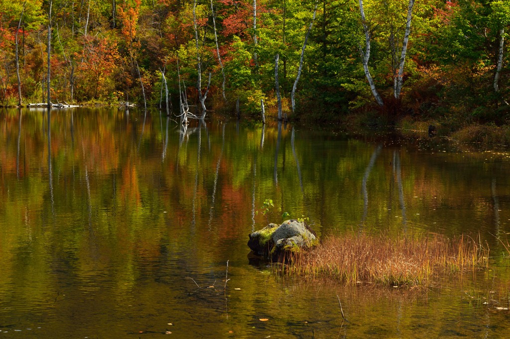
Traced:
POLYGON ((290 253, 284 272, 333 278, 344 284, 429 286, 441 274, 487 266, 488 246, 462 236, 346 234, 290 253))

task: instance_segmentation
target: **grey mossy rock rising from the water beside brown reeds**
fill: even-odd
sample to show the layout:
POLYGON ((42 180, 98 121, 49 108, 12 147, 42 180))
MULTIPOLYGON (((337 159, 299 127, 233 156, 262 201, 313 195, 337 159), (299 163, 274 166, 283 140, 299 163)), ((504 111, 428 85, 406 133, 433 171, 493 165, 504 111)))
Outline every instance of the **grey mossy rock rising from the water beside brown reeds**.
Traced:
POLYGON ((286 220, 281 225, 268 224, 249 235, 248 247, 260 257, 283 260, 285 253, 317 244, 316 233, 304 222, 286 220))

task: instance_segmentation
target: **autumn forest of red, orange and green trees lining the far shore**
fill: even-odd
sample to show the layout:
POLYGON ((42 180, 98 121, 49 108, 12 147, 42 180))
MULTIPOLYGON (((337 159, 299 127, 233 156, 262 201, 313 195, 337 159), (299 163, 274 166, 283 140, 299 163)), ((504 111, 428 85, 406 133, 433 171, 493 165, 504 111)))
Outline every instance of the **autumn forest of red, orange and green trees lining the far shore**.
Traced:
POLYGON ((3 0, 0 105, 504 124, 508 25, 492 0, 3 0))

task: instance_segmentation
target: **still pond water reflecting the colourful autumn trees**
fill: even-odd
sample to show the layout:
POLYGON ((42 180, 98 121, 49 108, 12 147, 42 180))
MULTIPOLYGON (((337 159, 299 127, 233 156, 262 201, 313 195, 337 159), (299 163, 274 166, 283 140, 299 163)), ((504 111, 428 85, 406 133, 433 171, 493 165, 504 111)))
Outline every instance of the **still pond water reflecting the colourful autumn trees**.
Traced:
POLYGON ((425 135, 0 110, 0 338, 510 337, 509 173, 425 135), (476 236, 490 267, 425 291, 283 278, 247 257, 266 199, 322 237, 476 236))

